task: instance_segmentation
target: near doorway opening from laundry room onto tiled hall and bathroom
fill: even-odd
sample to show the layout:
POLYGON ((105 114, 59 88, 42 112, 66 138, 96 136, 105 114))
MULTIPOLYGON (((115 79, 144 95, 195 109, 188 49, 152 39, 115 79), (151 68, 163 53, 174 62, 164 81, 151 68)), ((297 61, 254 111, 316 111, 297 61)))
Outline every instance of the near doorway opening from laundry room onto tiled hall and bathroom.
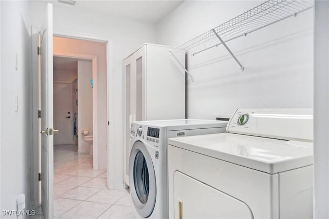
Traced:
POLYGON ((106 49, 53 37, 54 217, 107 191, 106 49))

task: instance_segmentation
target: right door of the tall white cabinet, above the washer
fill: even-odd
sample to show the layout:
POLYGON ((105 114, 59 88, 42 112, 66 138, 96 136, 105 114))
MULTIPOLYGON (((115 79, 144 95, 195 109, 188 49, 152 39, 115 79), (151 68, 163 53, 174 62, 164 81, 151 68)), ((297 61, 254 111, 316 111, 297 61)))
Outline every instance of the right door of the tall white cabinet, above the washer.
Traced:
POLYGON ((135 53, 136 66, 136 121, 147 120, 146 118, 146 49, 147 45, 137 50, 135 53))

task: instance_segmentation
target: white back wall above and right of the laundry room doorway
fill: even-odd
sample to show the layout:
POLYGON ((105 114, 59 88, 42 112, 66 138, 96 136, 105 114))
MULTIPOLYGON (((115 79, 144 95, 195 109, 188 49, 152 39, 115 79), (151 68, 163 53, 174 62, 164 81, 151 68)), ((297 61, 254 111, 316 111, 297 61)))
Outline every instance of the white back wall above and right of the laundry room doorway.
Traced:
MULTIPOLYGON (((46 3, 30 2, 31 23, 35 27, 41 26, 40 16, 46 3)), ((53 7, 54 33, 63 31, 72 34, 100 36, 109 39, 108 47, 108 111, 109 138, 113 144, 109 145, 109 160, 115 166, 109 168, 109 188, 123 186, 123 59, 145 42, 156 42, 155 26, 140 22, 127 21, 112 17, 106 13, 90 10, 75 10, 75 7, 62 5, 53 7)), ((106 78, 103 78, 106 80, 106 78)), ((99 79, 100 81, 100 79, 99 79)), ((104 121, 105 124, 107 121, 104 121)))

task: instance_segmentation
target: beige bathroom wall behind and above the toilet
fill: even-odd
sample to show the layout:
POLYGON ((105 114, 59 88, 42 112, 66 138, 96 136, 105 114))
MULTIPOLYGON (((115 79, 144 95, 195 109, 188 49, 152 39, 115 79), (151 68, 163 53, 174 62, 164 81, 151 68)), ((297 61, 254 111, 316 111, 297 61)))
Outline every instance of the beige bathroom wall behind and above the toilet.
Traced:
POLYGON ((93 135, 93 88, 90 86, 92 78, 93 63, 78 61, 78 152, 89 152, 90 148, 90 144, 83 141, 82 131, 88 130, 88 135, 93 135))

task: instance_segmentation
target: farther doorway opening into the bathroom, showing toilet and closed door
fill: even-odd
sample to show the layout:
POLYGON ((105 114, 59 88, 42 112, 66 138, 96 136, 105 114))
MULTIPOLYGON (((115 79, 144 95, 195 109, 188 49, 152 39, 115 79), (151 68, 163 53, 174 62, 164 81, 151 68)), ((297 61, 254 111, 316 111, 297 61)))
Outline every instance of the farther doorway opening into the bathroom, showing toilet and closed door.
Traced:
POLYGON ((72 145, 93 155, 93 92, 92 60, 53 57, 53 122, 61 130, 54 149, 72 145))

